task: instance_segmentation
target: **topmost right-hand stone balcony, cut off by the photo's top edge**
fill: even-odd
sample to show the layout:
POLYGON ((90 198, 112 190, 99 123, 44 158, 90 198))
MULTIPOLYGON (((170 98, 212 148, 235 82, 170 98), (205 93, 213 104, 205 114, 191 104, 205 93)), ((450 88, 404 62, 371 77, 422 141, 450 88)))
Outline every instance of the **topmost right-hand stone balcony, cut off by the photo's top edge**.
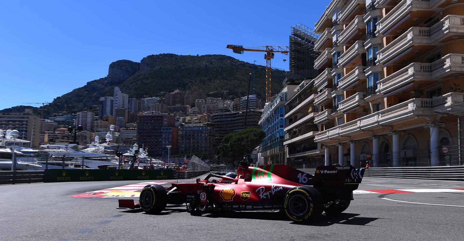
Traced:
MULTIPOLYGON (((380 5, 380 2, 376 2, 380 5)), ((385 34, 413 11, 430 11, 428 0, 402 0, 377 23, 376 34, 385 34)))

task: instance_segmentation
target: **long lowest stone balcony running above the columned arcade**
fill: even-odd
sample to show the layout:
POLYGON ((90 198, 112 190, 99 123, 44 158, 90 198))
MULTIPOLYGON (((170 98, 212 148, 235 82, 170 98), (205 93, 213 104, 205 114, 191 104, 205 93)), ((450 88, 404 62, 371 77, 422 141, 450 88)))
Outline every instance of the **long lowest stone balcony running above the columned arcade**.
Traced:
POLYGON ((349 137, 363 131, 379 129, 384 125, 409 121, 418 116, 430 116, 433 111, 463 102, 464 93, 456 92, 447 93, 436 99, 410 99, 387 109, 335 126, 329 130, 320 131, 316 134, 315 141, 323 142, 329 139, 349 137))

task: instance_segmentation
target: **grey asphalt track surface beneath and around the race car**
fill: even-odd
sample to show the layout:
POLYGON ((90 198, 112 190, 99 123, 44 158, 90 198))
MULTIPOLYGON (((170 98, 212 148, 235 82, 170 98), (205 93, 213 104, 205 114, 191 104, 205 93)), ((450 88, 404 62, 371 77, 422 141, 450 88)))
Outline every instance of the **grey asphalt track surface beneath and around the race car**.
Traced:
MULTIPOLYGON (((354 194, 354 201, 341 215, 323 215, 320 221, 307 224, 264 212, 193 216, 184 206, 168 207, 161 214, 149 215, 117 210, 117 198, 71 197, 138 182, 0 185, 0 240, 464 240, 464 192, 354 194)), ((364 178, 359 187, 360 190, 429 188, 464 188, 464 182, 364 178)))

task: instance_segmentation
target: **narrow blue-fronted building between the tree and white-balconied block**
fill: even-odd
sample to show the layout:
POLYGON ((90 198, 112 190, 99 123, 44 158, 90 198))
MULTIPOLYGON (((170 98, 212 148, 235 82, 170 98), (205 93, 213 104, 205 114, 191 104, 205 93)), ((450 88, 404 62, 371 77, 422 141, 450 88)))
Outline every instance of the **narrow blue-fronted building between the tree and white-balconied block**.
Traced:
POLYGON ((261 143, 261 156, 265 164, 283 164, 286 155, 284 148, 285 103, 297 92, 296 85, 286 85, 272 101, 266 103, 259 119, 261 130, 266 136, 261 143))

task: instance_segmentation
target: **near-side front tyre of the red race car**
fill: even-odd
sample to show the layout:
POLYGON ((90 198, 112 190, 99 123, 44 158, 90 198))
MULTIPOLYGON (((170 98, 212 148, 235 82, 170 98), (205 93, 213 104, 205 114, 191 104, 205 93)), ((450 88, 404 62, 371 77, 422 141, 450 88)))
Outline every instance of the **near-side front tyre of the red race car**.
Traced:
POLYGON ((168 194, 161 185, 146 185, 140 192, 140 207, 146 213, 159 213, 166 208, 168 194))

